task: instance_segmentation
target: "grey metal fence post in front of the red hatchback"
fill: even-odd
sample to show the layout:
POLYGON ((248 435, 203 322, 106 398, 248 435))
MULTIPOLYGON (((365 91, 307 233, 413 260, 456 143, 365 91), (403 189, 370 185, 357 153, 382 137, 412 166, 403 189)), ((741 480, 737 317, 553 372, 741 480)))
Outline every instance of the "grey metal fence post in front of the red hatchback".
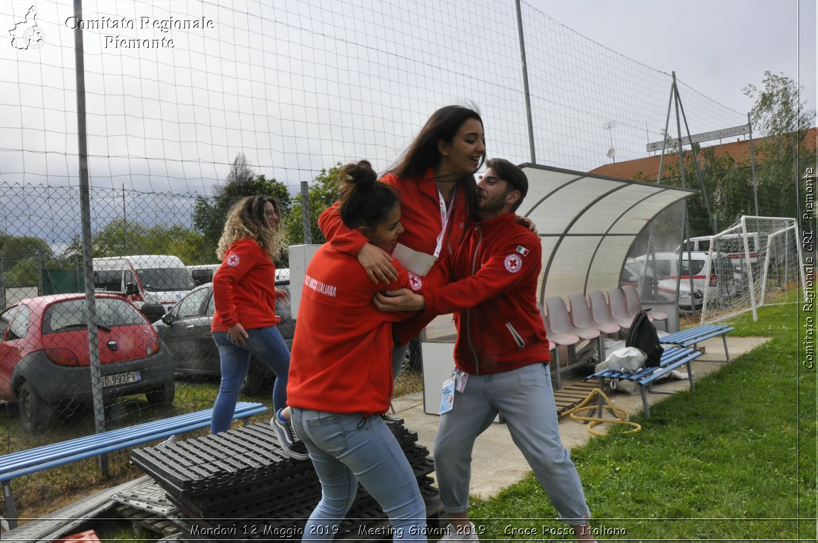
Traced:
MULTIPOLYGON (((74 17, 83 19, 83 0, 74 0, 74 17)), ((83 29, 74 29, 74 61, 77 75, 77 146, 79 147, 79 206, 83 224, 83 268, 85 271, 86 312, 88 312, 88 354, 91 357, 91 393, 94 425, 105 432, 105 408, 102 404, 100 353, 97 330, 97 304, 94 298, 93 254, 91 249, 91 192, 88 187, 88 133, 85 125, 85 62, 83 29)), ((100 456, 100 471, 108 474, 108 457, 100 456)))

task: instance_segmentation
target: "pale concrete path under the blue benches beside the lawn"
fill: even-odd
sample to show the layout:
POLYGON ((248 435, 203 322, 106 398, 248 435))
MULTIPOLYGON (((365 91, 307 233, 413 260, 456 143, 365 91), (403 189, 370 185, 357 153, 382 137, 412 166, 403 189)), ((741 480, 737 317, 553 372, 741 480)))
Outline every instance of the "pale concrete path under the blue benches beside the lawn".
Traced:
MULTIPOLYGON (((739 338, 727 335, 727 347, 730 349, 730 360, 744 352, 748 352, 770 338, 739 338)), ((708 375, 724 366, 724 346, 721 338, 708 339, 699 343, 705 348, 705 354, 693 363, 695 379, 708 375)), ((684 370, 684 366, 681 368, 684 370)), ((564 375, 563 385, 581 378, 564 375)), ((672 380, 654 387, 655 390, 674 391, 687 389, 685 380, 672 380)), ((625 393, 609 395, 613 405, 634 415, 642 411, 642 399, 639 394, 631 396, 625 393)), ((665 394, 649 394, 648 403, 653 405, 666 398, 665 394)), ((413 393, 393 400, 396 415, 406 421, 407 429, 418 433, 418 442, 429 449, 434 455, 434 435, 438 430, 438 415, 426 415, 423 406, 423 393, 413 393)), ((597 426, 597 430, 605 426, 597 426)), ((649 432, 649 426, 643 427, 642 432, 649 432)), ((593 437, 588 433, 586 425, 568 417, 560 418, 560 437, 565 447, 571 449, 579 447, 593 437)), ((518 482, 530 471, 528 463, 523 458, 506 429, 505 424, 492 424, 475 442, 474 459, 472 461, 472 477, 470 494, 488 499, 496 496, 501 489, 518 482)), ((434 476, 434 475, 433 475, 434 476)))

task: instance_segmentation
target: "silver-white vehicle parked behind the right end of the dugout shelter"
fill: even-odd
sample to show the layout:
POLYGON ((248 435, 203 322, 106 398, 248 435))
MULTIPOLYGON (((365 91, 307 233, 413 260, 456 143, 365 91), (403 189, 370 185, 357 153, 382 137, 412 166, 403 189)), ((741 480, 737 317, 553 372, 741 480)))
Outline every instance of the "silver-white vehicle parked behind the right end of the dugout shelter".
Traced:
POLYGON ((741 276, 725 253, 714 254, 710 262, 705 251, 684 251, 681 254, 681 268, 678 253, 656 253, 655 259, 653 255, 643 254, 634 260, 647 262, 658 276, 671 280, 681 276, 681 283, 688 286, 692 279, 694 290, 701 290, 714 303, 732 298, 741 291, 741 276), (706 264, 710 269, 709 282, 706 264))

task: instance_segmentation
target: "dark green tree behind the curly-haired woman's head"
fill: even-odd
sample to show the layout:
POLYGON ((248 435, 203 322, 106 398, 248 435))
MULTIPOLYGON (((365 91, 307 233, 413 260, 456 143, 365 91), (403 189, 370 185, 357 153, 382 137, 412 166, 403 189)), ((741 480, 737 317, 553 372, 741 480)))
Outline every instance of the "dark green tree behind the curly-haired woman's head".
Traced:
MULTIPOLYGON (((254 177, 244 155, 236 155, 224 185, 213 186, 213 196, 196 196, 193 204, 192 222, 204 238, 202 259, 205 263, 216 261, 218 239, 222 236, 224 221, 231 206, 245 196, 270 195, 281 201, 285 216, 290 213, 290 191, 284 183, 267 179, 263 175, 254 177)), ((283 258, 286 255, 282 255, 283 258)), ((284 262, 276 263, 281 266, 284 262)))

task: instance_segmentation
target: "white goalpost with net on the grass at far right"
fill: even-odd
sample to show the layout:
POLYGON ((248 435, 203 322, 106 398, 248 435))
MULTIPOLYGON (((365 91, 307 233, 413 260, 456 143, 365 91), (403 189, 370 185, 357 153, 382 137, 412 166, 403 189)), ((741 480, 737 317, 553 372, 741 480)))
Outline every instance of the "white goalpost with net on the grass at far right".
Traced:
POLYGON ((806 300, 799 239, 794 218, 750 215, 712 236, 701 323, 748 310, 757 321, 757 307, 806 300))

